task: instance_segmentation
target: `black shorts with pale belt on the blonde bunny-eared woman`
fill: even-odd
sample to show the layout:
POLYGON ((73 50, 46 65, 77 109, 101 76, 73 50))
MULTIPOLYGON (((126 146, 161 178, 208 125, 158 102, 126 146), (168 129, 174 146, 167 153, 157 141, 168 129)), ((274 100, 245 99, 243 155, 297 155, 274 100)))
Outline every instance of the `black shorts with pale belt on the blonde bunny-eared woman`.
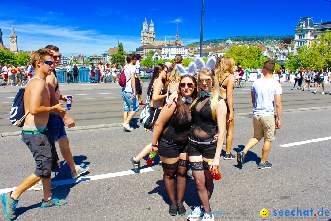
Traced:
MULTIPOLYGON (((197 141, 210 141, 211 140, 211 139, 198 140, 198 139, 195 139, 192 137, 190 137, 190 139, 194 139, 197 141)), ((188 156, 202 155, 203 157, 205 157, 207 159, 213 159, 215 157, 215 153, 216 153, 217 141, 214 141, 213 143, 208 143, 208 144, 199 144, 199 143, 189 140, 187 146, 188 146, 187 147, 188 156)))

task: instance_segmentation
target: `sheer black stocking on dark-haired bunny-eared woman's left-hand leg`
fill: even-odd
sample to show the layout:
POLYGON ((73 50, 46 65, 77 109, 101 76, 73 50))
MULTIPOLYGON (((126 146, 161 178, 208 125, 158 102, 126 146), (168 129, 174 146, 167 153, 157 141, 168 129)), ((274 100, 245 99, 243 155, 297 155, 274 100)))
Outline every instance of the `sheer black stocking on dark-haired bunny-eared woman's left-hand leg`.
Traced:
POLYGON ((165 184, 166 193, 169 197, 170 202, 176 203, 175 175, 178 170, 178 161, 172 164, 162 163, 162 167, 163 167, 163 182, 165 184))

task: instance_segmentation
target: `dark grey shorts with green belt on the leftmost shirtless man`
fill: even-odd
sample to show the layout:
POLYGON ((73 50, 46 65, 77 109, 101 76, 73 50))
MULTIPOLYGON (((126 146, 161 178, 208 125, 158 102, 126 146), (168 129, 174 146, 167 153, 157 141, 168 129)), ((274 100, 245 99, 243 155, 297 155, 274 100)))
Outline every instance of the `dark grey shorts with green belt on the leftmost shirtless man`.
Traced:
POLYGON ((22 131, 22 140, 31 151, 37 166, 33 172, 39 178, 48 179, 52 170, 60 168, 55 143, 48 131, 26 134, 22 131))

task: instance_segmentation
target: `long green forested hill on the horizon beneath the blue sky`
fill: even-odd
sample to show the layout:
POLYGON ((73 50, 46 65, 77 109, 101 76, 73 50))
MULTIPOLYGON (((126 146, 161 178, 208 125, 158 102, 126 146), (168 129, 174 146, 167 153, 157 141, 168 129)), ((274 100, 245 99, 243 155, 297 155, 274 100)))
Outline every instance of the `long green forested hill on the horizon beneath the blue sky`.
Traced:
MULTIPOLYGON (((282 41, 284 38, 290 37, 294 39, 294 35, 280 35, 280 36, 262 36, 262 35, 250 35, 250 36, 235 36, 230 37, 232 41, 282 41)), ((223 43, 226 42, 229 38, 223 38, 223 39, 213 39, 213 40, 206 40, 203 41, 203 44, 209 44, 209 43, 223 43)), ((200 41, 194 42, 192 44, 200 45, 200 41)))

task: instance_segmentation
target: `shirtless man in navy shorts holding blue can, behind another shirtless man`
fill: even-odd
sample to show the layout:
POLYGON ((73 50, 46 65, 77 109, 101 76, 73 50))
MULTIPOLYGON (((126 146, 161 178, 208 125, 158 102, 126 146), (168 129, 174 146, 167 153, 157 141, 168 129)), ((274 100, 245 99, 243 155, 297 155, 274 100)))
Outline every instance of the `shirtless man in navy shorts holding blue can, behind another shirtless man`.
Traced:
MULTIPOLYGON (((46 48, 58 49, 57 51, 51 49, 51 52, 53 53, 52 58, 54 61, 54 66, 58 66, 61 59, 61 55, 59 52, 59 48, 54 47, 55 46, 53 45, 46 46, 46 48)), ((55 70, 52 72, 51 75, 47 76, 46 83, 48 84, 51 94, 51 105, 60 103, 60 99, 63 101, 67 101, 68 95, 60 94, 59 81, 57 79, 55 70)), ((62 118, 64 119, 69 128, 72 128, 76 125, 73 119, 69 117, 67 113, 51 112, 49 113, 47 127, 52 135, 54 142, 59 143, 61 154, 71 169, 71 178, 76 179, 80 176, 80 174, 83 174, 88 170, 88 166, 81 167, 79 165, 76 165, 73 161, 71 149, 69 147, 69 139, 65 131, 65 124, 62 118)), ((42 188, 42 186, 40 188, 42 188)), ((35 187, 34 189, 37 190, 38 187, 35 187)))

